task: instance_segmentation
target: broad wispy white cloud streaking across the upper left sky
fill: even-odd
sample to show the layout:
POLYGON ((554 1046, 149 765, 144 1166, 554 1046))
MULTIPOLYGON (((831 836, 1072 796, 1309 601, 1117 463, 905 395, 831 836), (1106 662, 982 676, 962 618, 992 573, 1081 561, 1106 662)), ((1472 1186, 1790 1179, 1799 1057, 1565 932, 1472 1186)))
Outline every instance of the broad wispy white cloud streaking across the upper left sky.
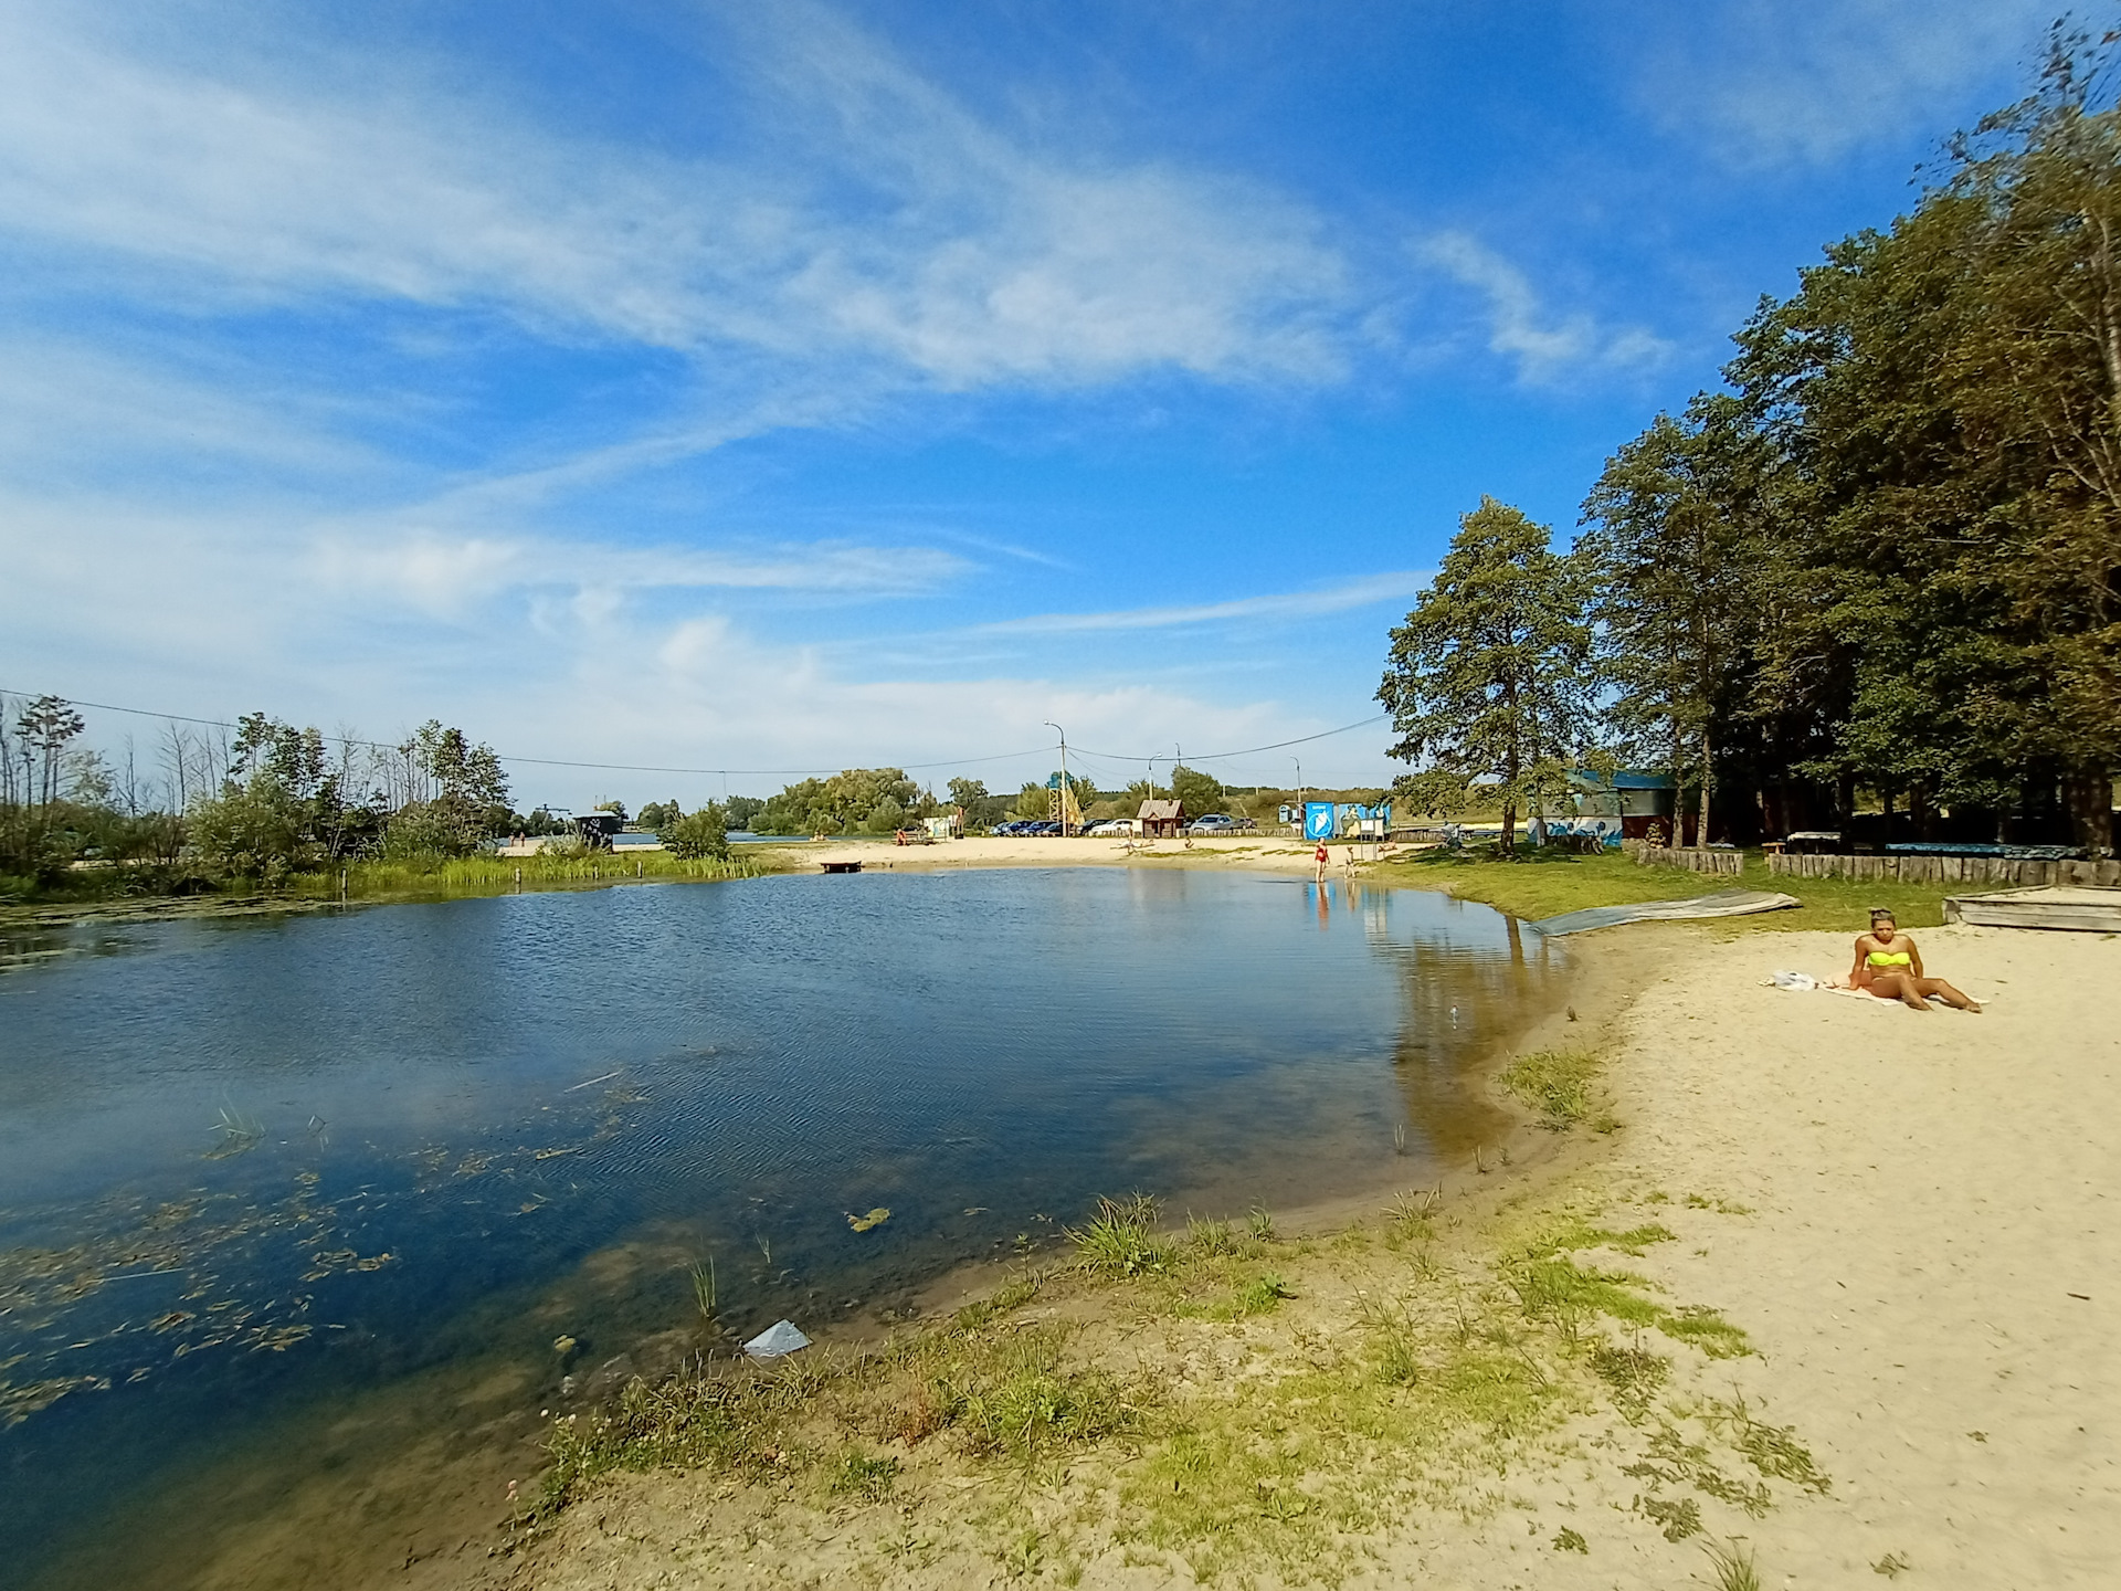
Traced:
POLYGON ((946 386, 1150 367, 1330 378, 1347 272, 1300 206, 1154 163, 1029 153, 821 13, 757 34, 753 163, 562 138, 498 104, 212 72, 0 19, 0 225, 144 267, 142 293, 354 295, 564 335, 874 361, 946 386))

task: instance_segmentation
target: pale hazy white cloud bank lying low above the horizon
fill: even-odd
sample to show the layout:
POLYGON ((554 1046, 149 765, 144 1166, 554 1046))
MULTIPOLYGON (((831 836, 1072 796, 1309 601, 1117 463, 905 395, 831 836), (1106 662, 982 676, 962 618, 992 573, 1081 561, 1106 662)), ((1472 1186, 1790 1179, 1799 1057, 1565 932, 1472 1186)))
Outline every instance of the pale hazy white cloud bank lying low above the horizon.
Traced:
MULTIPOLYGON (((518 585, 507 600, 435 624, 431 592, 532 569, 520 545, 437 543, 399 585, 348 600, 344 569, 261 556, 255 524, 4 496, 0 522, 17 532, 11 573, 40 598, 11 615, 0 636, 0 685, 172 713, 225 717, 259 706, 325 728, 365 725, 382 738, 435 715, 520 757, 677 768, 957 757, 952 770, 995 774, 997 787, 1044 776, 1050 753, 1031 751, 1020 764, 974 759, 1046 747, 1046 719, 1067 723, 1071 742, 1141 753, 1171 742, 1266 745, 1362 715, 1362 702, 1243 700, 1158 672, 1086 683, 1080 670, 1052 677, 1020 658, 980 677, 935 679, 878 668, 874 655, 838 645, 770 639, 744 622, 742 607, 647 611, 624 585, 594 581, 518 585), (201 624, 201 615, 242 619, 201 624), (66 677, 53 679, 45 670, 62 651, 66 677)), ((761 562, 736 577, 781 577, 774 571, 761 562)), ((694 573, 719 579, 725 571, 694 573)), ((1332 755, 1345 757, 1349 781, 1385 768, 1377 736, 1321 747, 1315 764, 1307 751, 1304 766, 1330 772, 1332 755)), ((518 793, 566 804, 649 793, 696 800, 719 785, 526 766, 518 793)))

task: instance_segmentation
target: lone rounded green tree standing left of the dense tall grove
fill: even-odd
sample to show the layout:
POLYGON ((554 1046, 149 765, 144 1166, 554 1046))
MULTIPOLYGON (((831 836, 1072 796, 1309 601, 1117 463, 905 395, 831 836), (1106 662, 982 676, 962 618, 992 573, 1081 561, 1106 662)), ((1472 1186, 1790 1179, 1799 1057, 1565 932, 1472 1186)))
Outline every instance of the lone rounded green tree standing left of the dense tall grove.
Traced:
POLYGON ((1502 849, 1519 810, 1542 812, 1595 730, 1593 628, 1584 569, 1521 509, 1480 499, 1459 520, 1436 579, 1391 632, 1377 700, 1391 713, 1389 753, 1500 785, 1502 849))

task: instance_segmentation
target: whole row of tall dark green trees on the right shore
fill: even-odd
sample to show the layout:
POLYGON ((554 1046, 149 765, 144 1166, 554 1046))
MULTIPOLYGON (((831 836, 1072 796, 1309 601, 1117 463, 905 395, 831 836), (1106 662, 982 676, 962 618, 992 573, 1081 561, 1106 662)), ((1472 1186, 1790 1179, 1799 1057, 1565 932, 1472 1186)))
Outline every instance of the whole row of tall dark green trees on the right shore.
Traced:
MULTIPOLYGON (((1724 384, 1606 465, 1567 552, 1493 499, 1391 632, 1402 800, 1678 774, 1697 836, 1881 806, 1917 838, 2110 851, 2121 768, 2115 36, 1826 248, 1724 384)), ((1894 827, 1898 825, 1898 827, 1894 827)))

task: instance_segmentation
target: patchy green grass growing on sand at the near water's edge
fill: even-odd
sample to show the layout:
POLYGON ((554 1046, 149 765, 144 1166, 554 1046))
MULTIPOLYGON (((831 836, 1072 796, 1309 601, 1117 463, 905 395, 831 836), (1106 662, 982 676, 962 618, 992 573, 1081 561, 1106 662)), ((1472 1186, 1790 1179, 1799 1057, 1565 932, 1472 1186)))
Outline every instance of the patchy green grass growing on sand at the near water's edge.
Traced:
POLYGON ((679 1468, 711 1476, 704 1506, 770 1510, 785 1544, 870 1536, 846 1510, 874 1510, 878 1576, 884 1557, 933 1570, 1007 1542, 1024 1563, 1003 1574, 1035 1557, 1063 1585, 1097 1557, 1334 1580, 1415 1508, 1478 1517, 1508 1476, 1587 1455, 1567 1430, 1599 1417, 1614 1496, 1667 1540, 1703 1529, 1701 1502, 1756 1517, 1769 1483, 1824 1487, 1794 1432, 1667 1392, 1750 1347, 1597 1262, 1671 1241, 1661 1224, 1563 1207, 1453 1243, 1434 1201, 1402 1199, 1330 1241, 1281 1241, 1266 1220, 1169 1232, 1156 1216, 1139 1194, 1101 1201, 1071 1262, 876 1351, 700 1366, 554 1421, 526 1538, 604 1474, 679 1468))

